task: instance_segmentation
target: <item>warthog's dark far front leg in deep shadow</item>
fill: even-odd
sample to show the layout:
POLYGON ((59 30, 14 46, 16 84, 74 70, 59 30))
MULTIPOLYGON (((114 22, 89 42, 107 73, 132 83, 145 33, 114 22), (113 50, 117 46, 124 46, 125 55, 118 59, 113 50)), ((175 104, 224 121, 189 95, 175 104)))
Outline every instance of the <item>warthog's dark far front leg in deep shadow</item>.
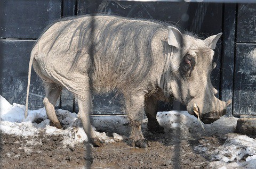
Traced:
POLYGON ((148 117, 148 130, 152 133, 164 133, 164 128, 159 125, 157 114, 157 100, 153 95, 145 98, 145 114, 148 117))

